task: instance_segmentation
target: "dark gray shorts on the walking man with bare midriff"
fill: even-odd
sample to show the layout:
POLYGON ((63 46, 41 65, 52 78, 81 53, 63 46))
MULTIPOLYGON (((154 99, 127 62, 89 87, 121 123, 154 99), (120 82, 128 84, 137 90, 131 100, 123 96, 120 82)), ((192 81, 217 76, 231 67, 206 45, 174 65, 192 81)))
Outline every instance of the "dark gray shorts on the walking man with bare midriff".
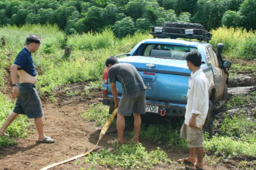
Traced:
POLYGON ((35 85, 31 83, 20 83, 18 89, 19 96, 13 112, 20 115, 27 115, 28 118, 42 117, 42 103, 35 90, 35 85))

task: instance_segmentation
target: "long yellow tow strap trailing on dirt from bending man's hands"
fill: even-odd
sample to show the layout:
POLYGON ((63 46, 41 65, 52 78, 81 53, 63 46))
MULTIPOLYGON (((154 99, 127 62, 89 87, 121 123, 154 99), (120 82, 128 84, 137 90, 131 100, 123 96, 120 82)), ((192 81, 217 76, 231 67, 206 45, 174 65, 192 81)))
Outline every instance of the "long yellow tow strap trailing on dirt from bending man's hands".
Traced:
POLYGON ((114 118, 115 118, 115 116, 116 116, 116 112, 117 112, 117 108, 116 108, 116 109, 114 110, 114 112, 110 115, 108 121, 106 121, 105 125, 103 126, 102 130, 100 131, 99 140, 98 140, 98 142, 97 142, 97 145, 96 145, 93 149, 89 150, 89 151, 86 152, 86 153, 83 153, 83 154, 80 154, 80 155, 76 155, 76 156, 74 156, 74 157, 72 157, 72 158, 69 158, 69 159, 66 159, 66 160, 62 160, 61 162, 54 163, 54 164, 49 165, 49 166, 47 166, 47 167, 44 167, 44 168, 42 168, 42 169, 40 169, 40 170, 47 170, 47 169, 53 168, 53 167, 55 167, 55 166, 57 166, 57 165, 61 165, 61 164, 70 162, 71 160, 75 160, 75 159, 77 159, 77 158, 83 157, 83 156, 88 155, 89 153, 91 153, 91 152, 98 146, 99 141, 102 139, 102 137, 105 135, 106 131, 109 129, 109 126, 111 125, 111 123, 113 122, 113 120, 114 120, 114 118))

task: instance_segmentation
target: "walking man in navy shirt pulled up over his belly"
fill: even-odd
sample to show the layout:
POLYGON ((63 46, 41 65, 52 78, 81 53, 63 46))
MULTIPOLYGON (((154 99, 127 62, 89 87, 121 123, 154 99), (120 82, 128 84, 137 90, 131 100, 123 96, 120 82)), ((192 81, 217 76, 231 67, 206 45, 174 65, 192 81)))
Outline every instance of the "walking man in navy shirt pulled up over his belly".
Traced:
POLYGON ((1 136, 8 136, 5 133, 6 128, 19 115, 27 115, 28 118, 34 118, 39 137, 37 143, 54 143, 54 139, 44 135, 43 131, 43 111, 41 100, 35 90, 37 82, 37 71, 34 68, 31 53, 39 49, 41 41, 35 35, 29 35, 26 39, 26 46, 19 52, 13 65, 11 66, 12 79, 12 98, 17 98, 14 111, 9 114, 0 129, 1 136), (17 74, 20 78, 18 84, 17 74))

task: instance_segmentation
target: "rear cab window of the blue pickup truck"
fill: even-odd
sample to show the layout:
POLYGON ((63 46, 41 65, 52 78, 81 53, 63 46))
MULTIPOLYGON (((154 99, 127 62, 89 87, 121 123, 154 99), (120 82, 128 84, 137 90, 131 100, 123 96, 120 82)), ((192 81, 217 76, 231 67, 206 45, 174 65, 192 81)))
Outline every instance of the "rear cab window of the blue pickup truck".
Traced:
POLYGON ((148 44, 144 47, 141 55, 185 60, 186 54, 193 50, 197 50, 197 48, 168 44, 148 44))

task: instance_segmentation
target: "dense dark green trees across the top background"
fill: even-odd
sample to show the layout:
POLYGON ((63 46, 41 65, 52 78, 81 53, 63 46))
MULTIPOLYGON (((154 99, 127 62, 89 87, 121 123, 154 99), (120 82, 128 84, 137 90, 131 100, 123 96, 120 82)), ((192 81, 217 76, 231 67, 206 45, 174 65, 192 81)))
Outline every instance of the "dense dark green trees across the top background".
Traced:
POLYGON ((66 34, 113 30, 117 37, 167 21, 256 29, 255 0, 1 0, 0 25, 57 24, 66 34))

